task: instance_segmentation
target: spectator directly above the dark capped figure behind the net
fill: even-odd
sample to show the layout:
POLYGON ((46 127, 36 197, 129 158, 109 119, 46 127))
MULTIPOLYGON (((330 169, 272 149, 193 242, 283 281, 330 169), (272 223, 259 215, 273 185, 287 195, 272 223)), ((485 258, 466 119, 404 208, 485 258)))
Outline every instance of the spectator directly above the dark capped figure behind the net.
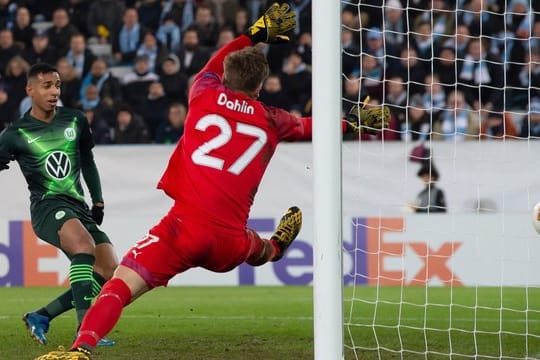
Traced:
POLYGON ((401 139, 407 142, 429 140, 431 134, 431 118, 424 108, 420 94, 414 95, 407 106, 407 116, 401 123, 401 139))

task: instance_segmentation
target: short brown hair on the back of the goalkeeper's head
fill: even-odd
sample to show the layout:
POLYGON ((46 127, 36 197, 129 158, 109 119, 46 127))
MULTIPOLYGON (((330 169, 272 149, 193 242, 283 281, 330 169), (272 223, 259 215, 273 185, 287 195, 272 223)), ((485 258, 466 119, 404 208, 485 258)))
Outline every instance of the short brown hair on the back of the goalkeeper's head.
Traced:
POLYGON ((270 73, 268 60, 255 47, 230 53, 223 65, 223 84, 231 90, 253 95, 270 73))

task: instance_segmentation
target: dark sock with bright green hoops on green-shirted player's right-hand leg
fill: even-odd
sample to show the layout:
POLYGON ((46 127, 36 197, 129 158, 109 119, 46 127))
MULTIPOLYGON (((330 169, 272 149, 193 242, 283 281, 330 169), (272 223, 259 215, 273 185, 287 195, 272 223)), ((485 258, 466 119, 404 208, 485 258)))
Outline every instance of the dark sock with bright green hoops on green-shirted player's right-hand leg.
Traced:
POLYGON ((94 260, 94 255, 76 254, 71 259, 69 267, 69 282, 79 324, 92 303, 94 260))

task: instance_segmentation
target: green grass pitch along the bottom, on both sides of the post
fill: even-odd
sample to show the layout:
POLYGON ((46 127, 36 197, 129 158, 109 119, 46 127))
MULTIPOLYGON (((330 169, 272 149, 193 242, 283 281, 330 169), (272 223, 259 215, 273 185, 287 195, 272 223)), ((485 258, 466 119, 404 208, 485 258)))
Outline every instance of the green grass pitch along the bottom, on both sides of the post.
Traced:
MULTIPOLYGON (((0 359, 71 344, 73 312, 51 323, 47 346, 21 321, 62 290, 0 288, 0 359)), ((346 359, 540 358, 538 288, 357 287, 345 299, 346 359)), ((126 308, 117 344, 94 358, 313 359, 312 309, 311 287, 160 288, 126 308)))

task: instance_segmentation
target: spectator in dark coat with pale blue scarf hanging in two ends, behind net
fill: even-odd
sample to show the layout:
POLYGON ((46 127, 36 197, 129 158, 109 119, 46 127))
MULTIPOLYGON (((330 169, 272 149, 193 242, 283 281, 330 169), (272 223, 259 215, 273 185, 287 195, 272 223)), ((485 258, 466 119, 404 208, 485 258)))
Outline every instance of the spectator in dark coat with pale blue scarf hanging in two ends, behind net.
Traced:
POLYGON ((469 42, 459 73, 460 87, 473 109, 491 110, 503 103, 504 68, 489 52, 486 38, 473 38, 469 42))

